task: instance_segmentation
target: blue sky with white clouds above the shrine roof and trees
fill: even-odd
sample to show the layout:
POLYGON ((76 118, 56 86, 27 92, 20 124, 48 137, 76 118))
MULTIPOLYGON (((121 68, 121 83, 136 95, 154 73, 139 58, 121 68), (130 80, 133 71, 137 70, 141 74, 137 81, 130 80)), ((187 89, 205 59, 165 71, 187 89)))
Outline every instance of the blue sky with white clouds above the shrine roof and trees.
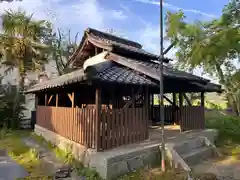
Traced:
MULTIPOLYGON (((182 9, 189 22, 210 20, 221 14, 228 0, 165 0, 164 12, 182 9)), ((22 8, 55 27, 82 34, 87 27, 114 29, 116 34, 138 41, 151 52, 159 52, 158 0, 23 0, 1 3, 0 14, 22 8)))

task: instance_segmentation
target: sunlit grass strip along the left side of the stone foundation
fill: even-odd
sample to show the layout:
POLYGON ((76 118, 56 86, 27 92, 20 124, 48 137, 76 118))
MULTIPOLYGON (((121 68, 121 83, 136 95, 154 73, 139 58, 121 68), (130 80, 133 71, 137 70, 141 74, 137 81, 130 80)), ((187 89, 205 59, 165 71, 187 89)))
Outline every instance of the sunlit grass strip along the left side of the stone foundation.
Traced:
POLYGON ((78 173, 78 175, 81 175, 86 178, 86 180, 102 180, 102 178, 99 176, 99 174, 89 168, 86 168, 83 166, 83 164, 79 161, 77 161, 73 154, 71 153, 71 148, 62 150, 55 145, 53 145, 51 142, 46 141, 42 136, 38 136, 36 134, 32 134, 32 137, 41 145, 47 147, 50 151, 54 152, 56 157, 61 160, 65 164, 69 164, 72 166, 78 173))

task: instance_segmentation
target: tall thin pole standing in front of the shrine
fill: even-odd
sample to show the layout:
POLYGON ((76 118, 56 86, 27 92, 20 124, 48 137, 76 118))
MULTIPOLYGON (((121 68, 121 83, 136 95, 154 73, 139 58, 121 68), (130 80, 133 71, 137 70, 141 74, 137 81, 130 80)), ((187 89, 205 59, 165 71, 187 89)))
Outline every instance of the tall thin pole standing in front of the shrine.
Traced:
POLYGON ((162 171, 165 171, 165 137, 164 137, 164 88, 163 88, 163 0, 160 0, 160 121, 161 121, 161 132, 162 132, 162 144, 161 144, 161 166, 162 171))

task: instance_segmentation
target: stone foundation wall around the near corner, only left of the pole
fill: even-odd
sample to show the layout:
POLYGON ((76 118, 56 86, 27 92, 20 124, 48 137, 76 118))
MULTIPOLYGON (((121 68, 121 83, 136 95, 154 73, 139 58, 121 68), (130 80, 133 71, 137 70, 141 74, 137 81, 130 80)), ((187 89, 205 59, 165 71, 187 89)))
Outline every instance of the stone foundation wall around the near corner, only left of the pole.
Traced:
POLYGON ((96 152, 38 125, 35 125, 35 133, 60 149, 71 150, 76 159, 86 167, 95 169, 104 179, 110 179, 153 164, 159 154, 159 145, 141 146, 139 144, 139 147, 130 149, 127 152, 121 150, 121 147, 96 152))

